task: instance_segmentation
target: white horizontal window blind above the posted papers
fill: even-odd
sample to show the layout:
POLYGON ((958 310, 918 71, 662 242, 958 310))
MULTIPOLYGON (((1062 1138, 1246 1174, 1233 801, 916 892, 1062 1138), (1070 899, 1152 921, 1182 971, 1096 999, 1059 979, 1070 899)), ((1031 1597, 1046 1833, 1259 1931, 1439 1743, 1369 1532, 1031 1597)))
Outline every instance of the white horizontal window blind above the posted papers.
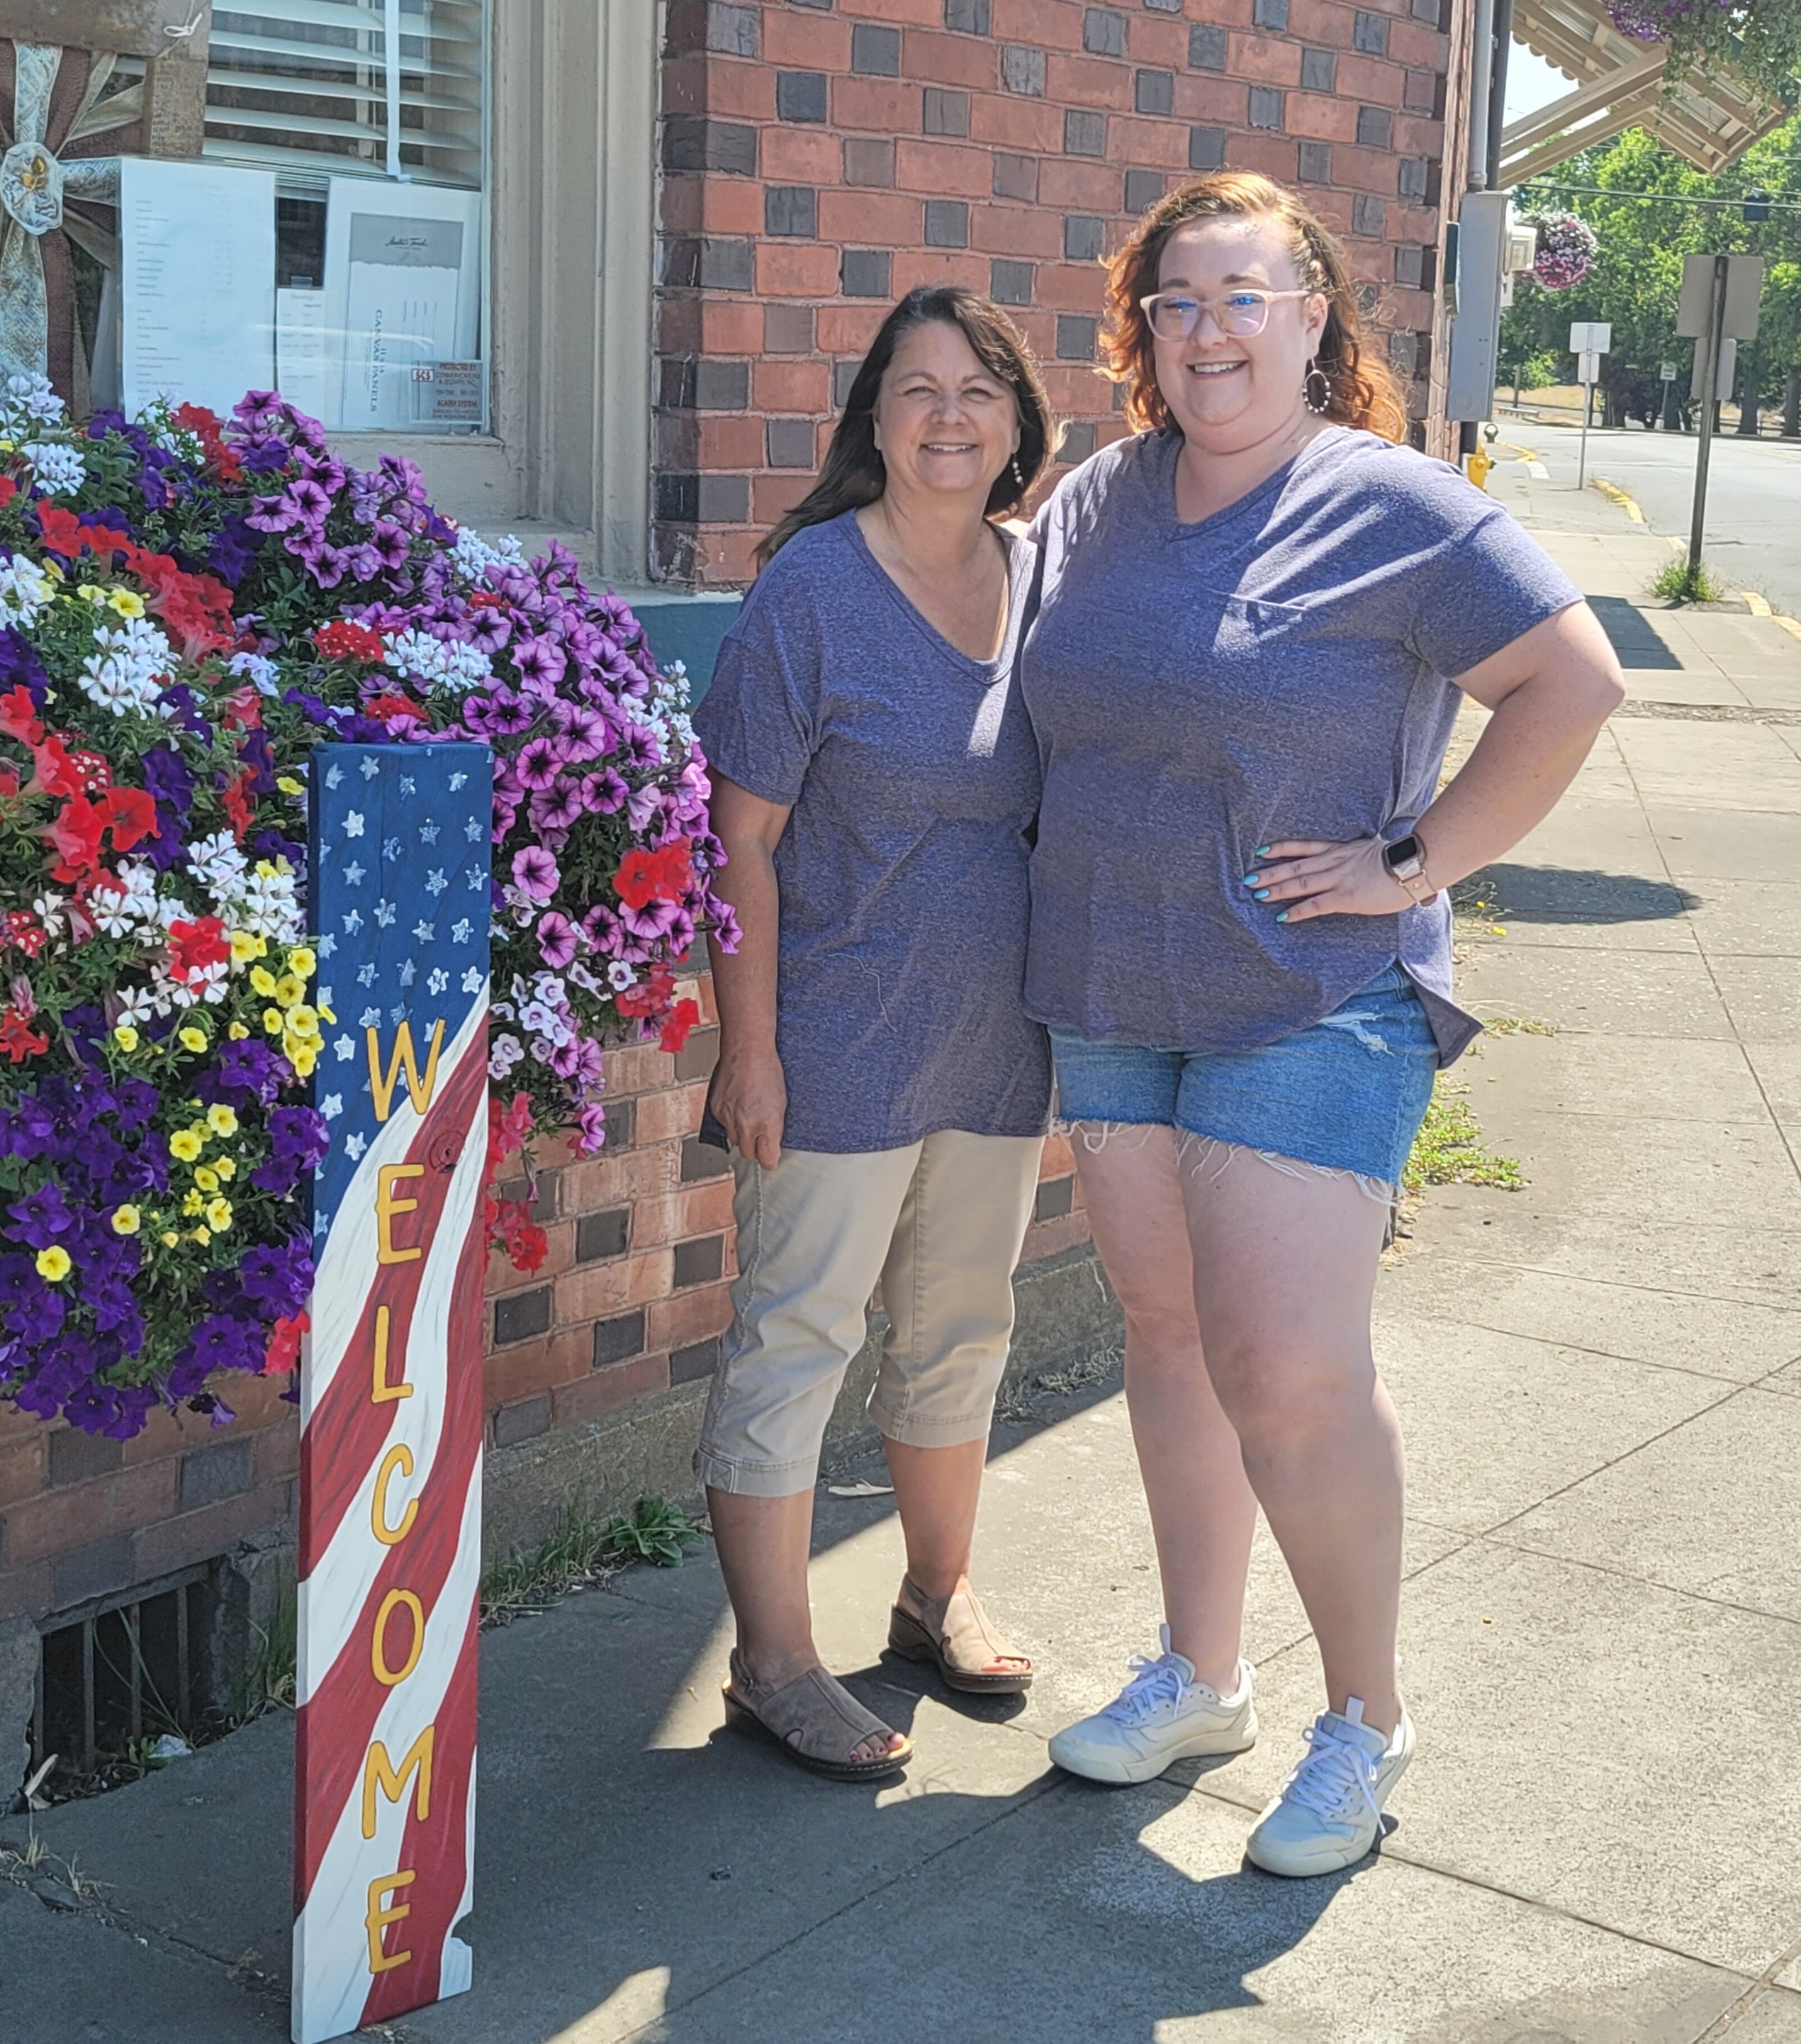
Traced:
POLYGON ((315 176, 399 170, 476 190, 484 59, 484 0, 215 6, 206 155, 315 176))

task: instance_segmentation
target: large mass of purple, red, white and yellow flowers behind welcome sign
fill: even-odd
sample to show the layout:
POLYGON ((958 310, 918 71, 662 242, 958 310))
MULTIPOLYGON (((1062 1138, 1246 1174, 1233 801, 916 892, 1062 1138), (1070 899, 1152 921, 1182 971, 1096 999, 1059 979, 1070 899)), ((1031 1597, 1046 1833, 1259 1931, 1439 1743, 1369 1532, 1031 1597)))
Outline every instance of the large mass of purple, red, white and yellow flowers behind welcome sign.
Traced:
MULTIPOLYGON (((309 936, 321 740, 495 752, 491 1179, 605 1141, 601 1053, 679 1049, 713 899, 681 670, 552 546, 440 517, 411 462, 339 462, 251 392, 76 429, 0 390, 0 1398, 129 1437, 294 1367, 307 1102, 354 1055, 309 936), (503 1106, 503 1102, 507 1102, 503 1106)), ((489 1228, 536 1267, 525 1202, 489 1228)), ((229 1414, 227 1414, 229 1416, 229 1414)))

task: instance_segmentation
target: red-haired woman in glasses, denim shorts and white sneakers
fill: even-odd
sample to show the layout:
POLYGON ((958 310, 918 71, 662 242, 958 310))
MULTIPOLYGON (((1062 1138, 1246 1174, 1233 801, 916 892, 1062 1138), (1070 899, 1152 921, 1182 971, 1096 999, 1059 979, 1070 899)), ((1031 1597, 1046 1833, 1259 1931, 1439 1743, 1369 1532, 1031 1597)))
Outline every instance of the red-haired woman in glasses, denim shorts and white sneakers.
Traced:
POLYGON ((1550 811, 1621 681, 1513 519, 1396 444, 1343 256, 1294 194, 1241 174, 1169 194, 1108 296, 1141 431, 1034 527, 1026 1006, 1124 1304, 1167 1623, 1051 1758, 1124 1782, 1251 1746, 1261 1504, 1327 1709, 1249 1856, 1319 1874, 1378 1840, 1413 1752, 1370 1302, 1433 1073, 1478 1030, 1445 889, 1550 811), (1439 789, 1466 695, 1492 715, 1439 789))

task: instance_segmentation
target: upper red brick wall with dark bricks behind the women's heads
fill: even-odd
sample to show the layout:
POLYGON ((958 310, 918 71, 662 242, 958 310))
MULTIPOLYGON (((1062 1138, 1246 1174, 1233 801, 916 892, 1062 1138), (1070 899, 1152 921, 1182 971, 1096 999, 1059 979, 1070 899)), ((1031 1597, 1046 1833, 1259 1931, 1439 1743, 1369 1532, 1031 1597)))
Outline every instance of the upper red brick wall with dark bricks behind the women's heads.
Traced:
POLYGON ((1296 184, 1347 239, 1415 415, 1431 405, 1453 10, 1468 0, 673 0, 656 315, 658 572, 750 576, 887 307, 1014 311, 1069 421, 1100 258, 1190 172, 1296 184), (1441 18, 1445 27, 1441 27, 1441 18))

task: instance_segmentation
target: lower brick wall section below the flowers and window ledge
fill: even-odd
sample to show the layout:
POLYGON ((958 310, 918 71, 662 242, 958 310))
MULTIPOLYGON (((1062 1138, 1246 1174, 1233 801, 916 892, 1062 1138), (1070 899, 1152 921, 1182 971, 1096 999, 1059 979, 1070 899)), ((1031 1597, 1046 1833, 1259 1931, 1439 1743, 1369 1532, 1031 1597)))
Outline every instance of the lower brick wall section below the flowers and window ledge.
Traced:
MULTIPOLYGON (((587 1161, 566 1151, 546 1159, 544 1267, 525 1275, 495 1257, 489 1269, 491 1451, 711 1376, 732 1318, 732 1179, 724 1157, 695 1141, 718 1051, 711 983, 683 991, 699 997, 707 1026, 679 1057, 644 1044, 607 1059, 607 1149, 587 1161)), ((1088 1241, 1071 1171, 1067 1145, 1053 1139, 1028 1265, 1088 1241)), ((157 1412, 125 1443, 0 1404, 0 1621, 45 1619, 290 1527, 296 1416, 282 1388, 221 1378, 231 1425, 157 1412)), ((685 1443, 693 1414, 683 1412, 677 1431, 685 1443)), ((591 1488, 603 1488, 605 1470, 599 1478, 591 1488)), ((495 1502, 507 1525, 536 1523, 532 1508, 495 1502)))

